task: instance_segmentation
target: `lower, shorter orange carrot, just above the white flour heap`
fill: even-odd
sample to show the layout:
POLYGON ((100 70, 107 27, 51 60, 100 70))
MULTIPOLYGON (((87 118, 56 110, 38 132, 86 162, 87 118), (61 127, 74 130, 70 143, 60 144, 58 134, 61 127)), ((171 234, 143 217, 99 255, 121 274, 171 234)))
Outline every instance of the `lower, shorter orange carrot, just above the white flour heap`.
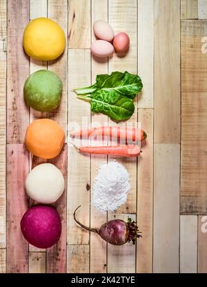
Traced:
POLYGON ((96 155, 120 155, 121 157, 138 157, 140 155, 139 146, 81 146, 77 148, 79 152, 88 152, 96 155))

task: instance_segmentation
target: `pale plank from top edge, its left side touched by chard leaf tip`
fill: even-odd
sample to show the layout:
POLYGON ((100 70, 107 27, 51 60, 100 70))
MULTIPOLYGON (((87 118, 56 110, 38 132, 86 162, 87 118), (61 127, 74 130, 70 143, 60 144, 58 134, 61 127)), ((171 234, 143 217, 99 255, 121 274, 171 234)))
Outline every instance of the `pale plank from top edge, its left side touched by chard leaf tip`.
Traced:
POLYGON ((143 83, 139 108, 154 107, 154 1, 138 0, 138 74, 143 83))

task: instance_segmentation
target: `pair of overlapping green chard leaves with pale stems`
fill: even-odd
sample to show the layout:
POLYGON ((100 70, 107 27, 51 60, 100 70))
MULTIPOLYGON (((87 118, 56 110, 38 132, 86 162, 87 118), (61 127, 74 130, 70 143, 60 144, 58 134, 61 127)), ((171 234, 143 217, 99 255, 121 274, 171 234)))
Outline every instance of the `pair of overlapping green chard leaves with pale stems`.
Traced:
POLYGON ((92 112, 101 112, 112 120, 124 121, 135 111, 132 99, 143 85, 138 75, 129 72, 112 72, 97 75, 96 83, 74 91, 78 97, 90 101, 92 112))

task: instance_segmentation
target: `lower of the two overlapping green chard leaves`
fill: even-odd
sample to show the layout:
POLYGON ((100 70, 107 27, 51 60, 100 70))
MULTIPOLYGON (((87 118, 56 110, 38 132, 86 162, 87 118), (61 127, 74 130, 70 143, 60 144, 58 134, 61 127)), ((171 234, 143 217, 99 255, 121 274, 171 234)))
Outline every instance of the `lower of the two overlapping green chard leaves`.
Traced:
POLYGON ((96 95, 82 97, 82 99, 90 100, 92 112, 101 112, 114 121, 125 121, 135 111, 132 99, 113 94, 112 92, 99 91, 96 95))

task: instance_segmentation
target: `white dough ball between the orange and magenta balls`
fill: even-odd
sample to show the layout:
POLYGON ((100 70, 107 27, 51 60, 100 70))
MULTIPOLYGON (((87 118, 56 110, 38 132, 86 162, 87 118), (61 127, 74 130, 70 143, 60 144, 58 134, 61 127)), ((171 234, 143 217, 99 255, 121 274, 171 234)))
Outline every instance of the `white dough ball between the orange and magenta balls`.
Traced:
POLYGON ((39 164, 28 174, 25 186, 29 197, 42 204, 52 204, 61 197, 65 181, 53 164, 39 164))

